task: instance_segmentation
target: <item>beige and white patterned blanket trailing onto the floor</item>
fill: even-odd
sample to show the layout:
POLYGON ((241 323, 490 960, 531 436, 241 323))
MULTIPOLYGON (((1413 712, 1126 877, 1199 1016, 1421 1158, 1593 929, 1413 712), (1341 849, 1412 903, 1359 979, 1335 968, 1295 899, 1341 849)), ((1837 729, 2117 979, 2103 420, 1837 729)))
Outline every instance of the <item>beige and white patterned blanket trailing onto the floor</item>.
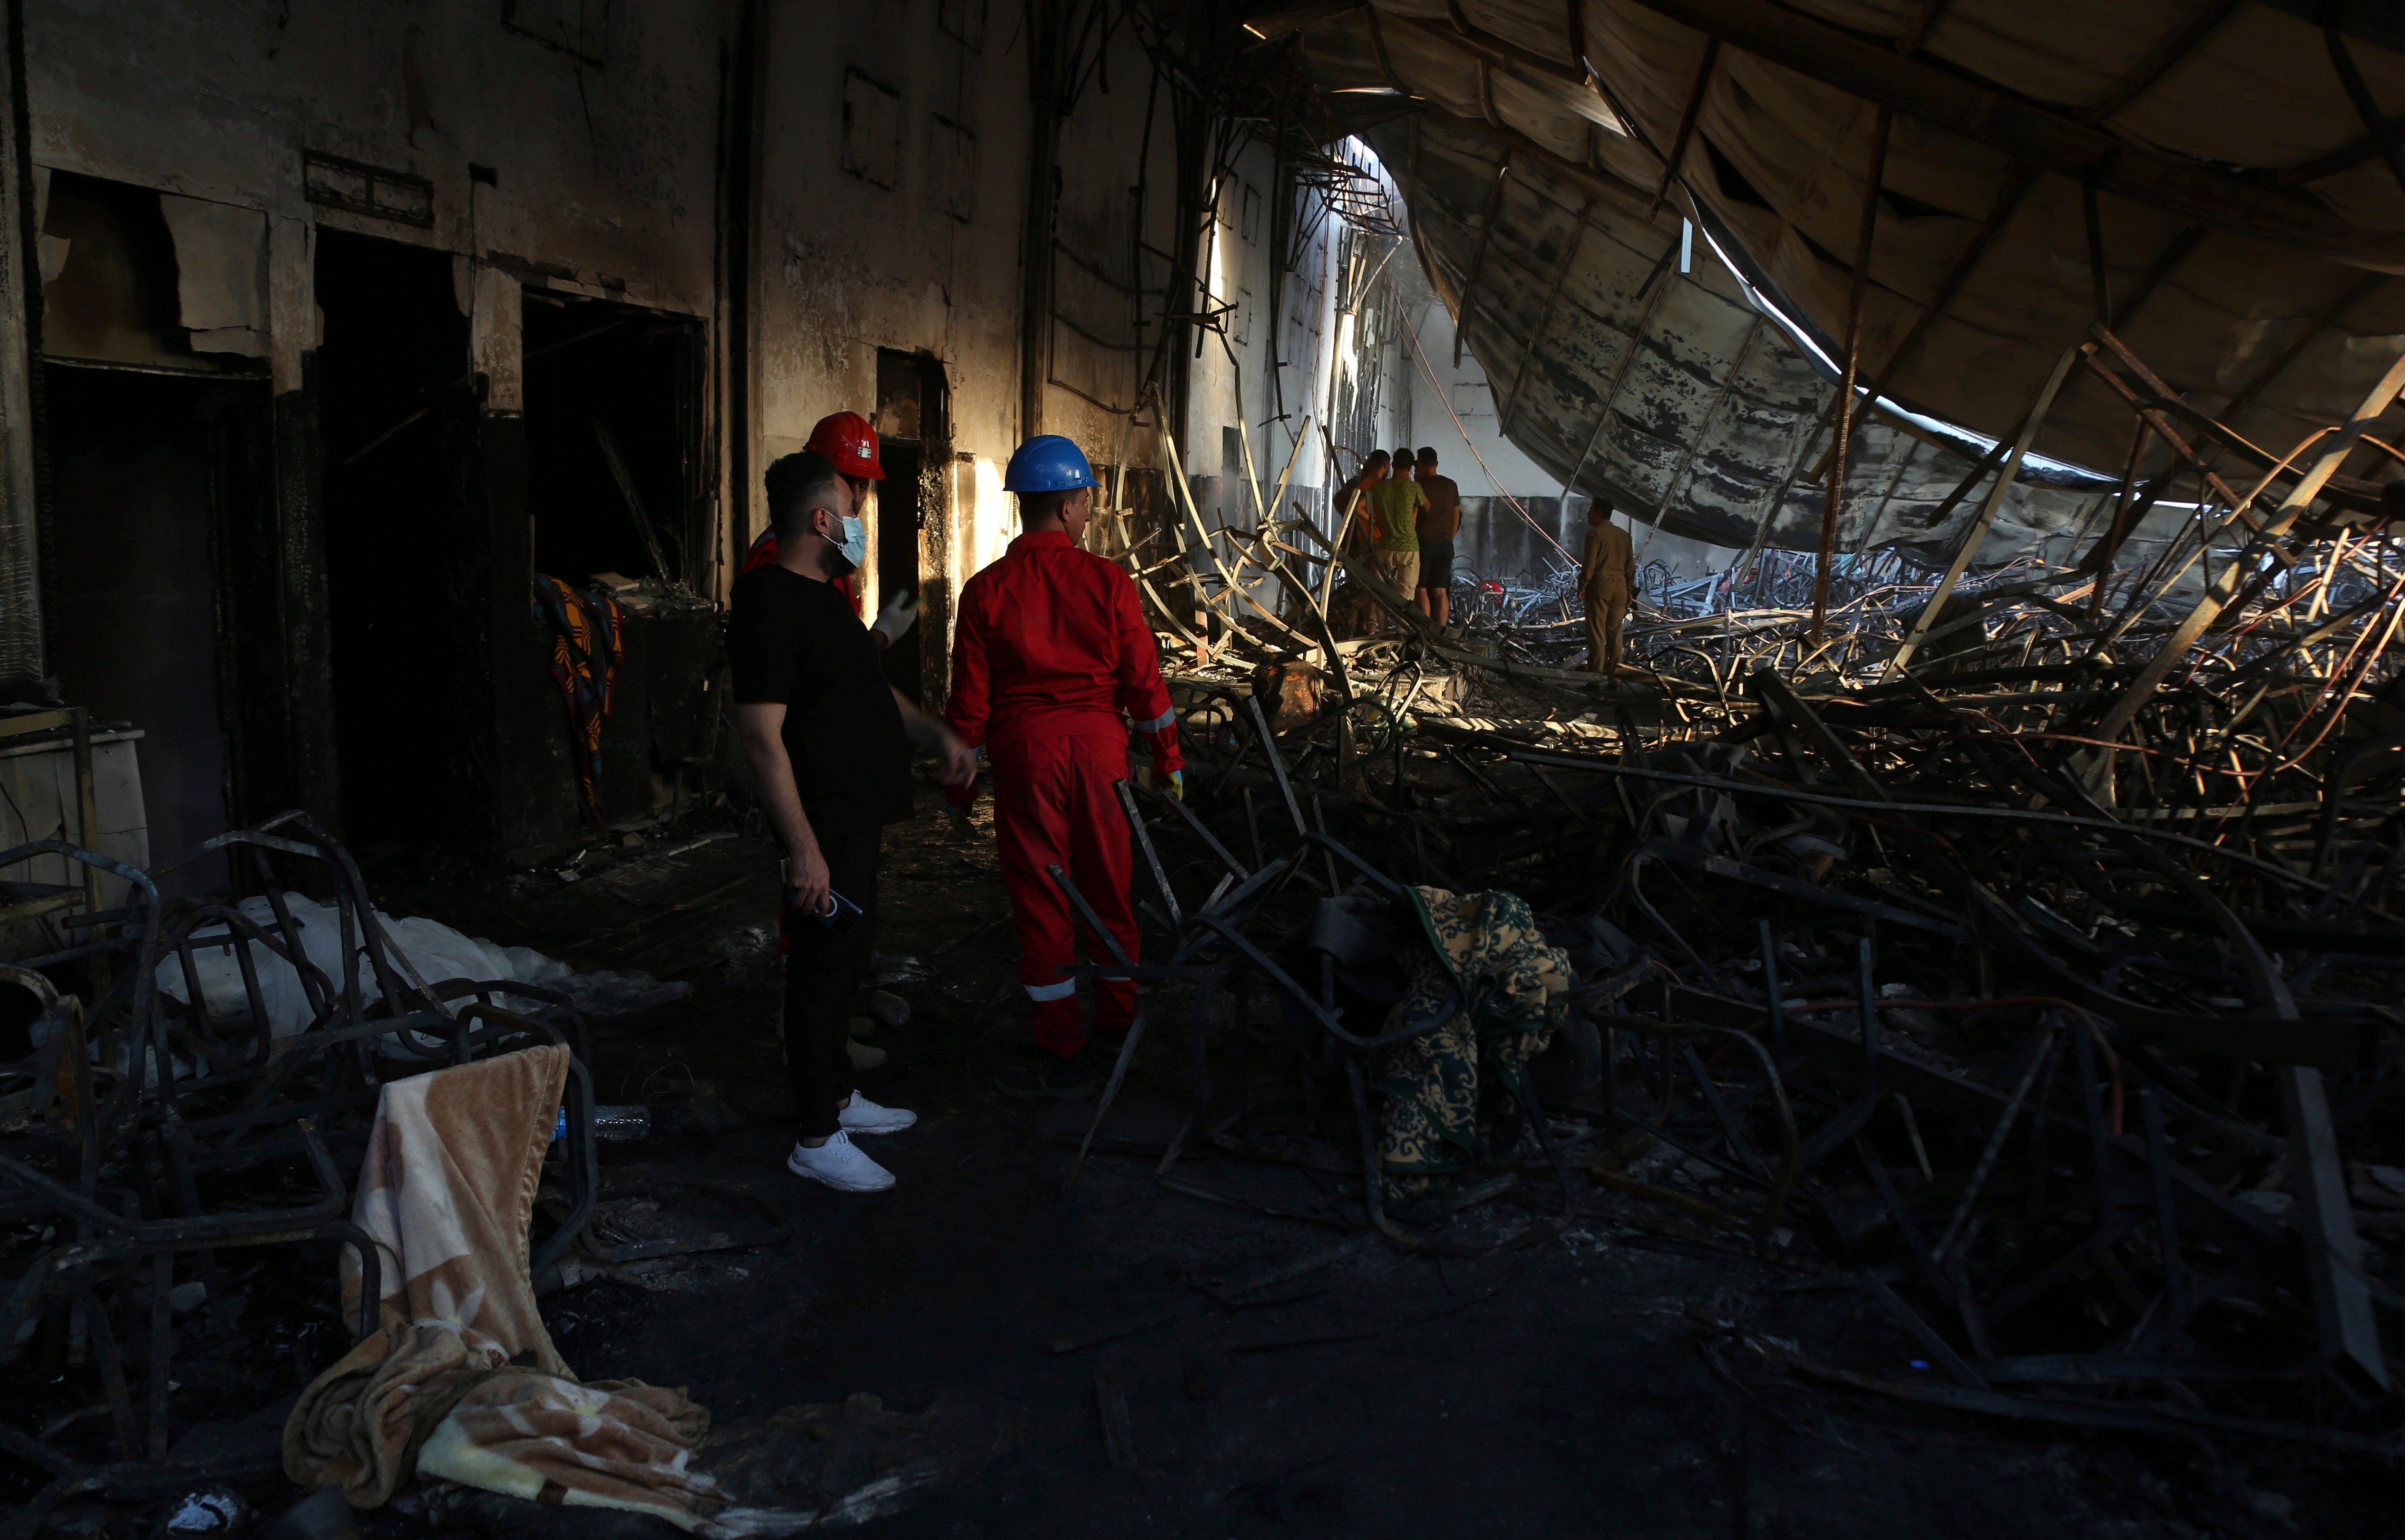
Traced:
MULTIPOLYGON (((527 1225, 565 1084, 551 1045, 385 1086, 351 1206, 382 1264, 382 1331, 301 1393, 284 1425, 296 1482, 342 1485, 356 1509, 445 1475, 688 1530, 717 1511, 688 1470, 709 1413, 635 1379, 580 1384, 534 1305, 527 1225)), ((346 1319, 358 1288, 344 1254, 346 1319)))

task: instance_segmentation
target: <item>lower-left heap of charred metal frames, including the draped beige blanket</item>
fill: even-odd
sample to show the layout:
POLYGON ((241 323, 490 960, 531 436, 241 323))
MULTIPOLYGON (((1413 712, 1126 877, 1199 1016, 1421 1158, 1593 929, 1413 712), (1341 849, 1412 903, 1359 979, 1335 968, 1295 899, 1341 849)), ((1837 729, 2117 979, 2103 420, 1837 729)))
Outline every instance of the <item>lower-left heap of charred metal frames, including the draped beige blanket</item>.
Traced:
MULTIPOLYGON (((243 1494, 289 1478, 317 1494, 274 1497, 274 1533, 356 1533, 351 1506, 517 1530, 565 1487, 688 1533, 784 1535, 899 1511, 1025 1439, 1025 1413, 964 1393, 712 1432, 681 1389, 560 1357, 536 1288, 640 1288, 791 1235, 736 1187, 604 1184, 596 1141, 652 1117, 596 1105, 587 1014, 685 985, 397 920, 303 814, 149 870, 38 841, 0 872, 43 858, 118 901, 0 889, 0 915, 53 944, 0 966, 29 1007, 0 1060, 5 1533, 233 1533, 243 1494), (216 855, 250 896, 161 901, 216 855)), ((664 1112, 734 1120, 707 1084, 664 1112)), ((606 1297, 553 1319, 582 1353, 596 1314, 606 1297)))

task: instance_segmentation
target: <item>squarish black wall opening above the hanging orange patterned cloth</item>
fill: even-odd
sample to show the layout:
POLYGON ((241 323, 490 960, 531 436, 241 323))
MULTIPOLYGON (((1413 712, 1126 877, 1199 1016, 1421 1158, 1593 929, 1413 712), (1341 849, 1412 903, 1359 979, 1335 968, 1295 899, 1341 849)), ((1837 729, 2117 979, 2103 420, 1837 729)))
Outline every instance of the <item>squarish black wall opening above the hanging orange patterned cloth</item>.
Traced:
POLYGON ((700 322, 529 291, 524 360, 534 569, 707 586, 700 322))

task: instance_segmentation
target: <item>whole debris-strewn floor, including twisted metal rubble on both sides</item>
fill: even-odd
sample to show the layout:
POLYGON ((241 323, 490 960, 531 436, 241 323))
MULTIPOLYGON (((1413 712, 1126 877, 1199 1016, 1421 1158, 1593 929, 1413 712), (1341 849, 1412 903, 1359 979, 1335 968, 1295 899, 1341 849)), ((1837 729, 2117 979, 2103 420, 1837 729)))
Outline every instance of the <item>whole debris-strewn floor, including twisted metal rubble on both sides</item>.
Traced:
MULTIPOLYGON (((878 1196, 784 1170, 738 812, 505 877, 226 836, 240 906, 127 925, 89 999, 12 975, 46 1002, 0 1213, 19 1530, 202 1514, 195 1466, 226 1509, 291 1504, 277 1437, 289 1466, 325 1432, 296 1396, 418 1297, 385 1333, 337 1309, 394 1091, 548 1052, 577 1062, 522 1108, 565 1098, 532 1240, 558 1362, 488 1372, 678 1386, 620 1389, 707 1408, 702 1470, 748 1482, 714 1535, 2388 1533, 2405 853, 2388 685, 2350 675, 2386 622, 2335 572, 2266 598, 2333 620, 2258 617, 2160 690, 2011 574, 1895 680, 1866 663, 1910 572, 1840 589, 1818 668, 1794 610, 1647 610, 1616 680, 1542 620, 1171 649, 1188 795, 1123 788, 1150 973, 1099 1100, 993 1091, 1029 1043, 984 805, 887 831, 854 1047, 921 1122, 875 1141, 878 1196), (2138 742, 2095 754, 2124 699, 2138 742), (385 918, 320 951, 346 896, 385 918), (176 1093, 65 1055, 87 1021, 137 1023, 176 1093)), ((659 1528, 438 1456, 358 1526, 659 1528)))

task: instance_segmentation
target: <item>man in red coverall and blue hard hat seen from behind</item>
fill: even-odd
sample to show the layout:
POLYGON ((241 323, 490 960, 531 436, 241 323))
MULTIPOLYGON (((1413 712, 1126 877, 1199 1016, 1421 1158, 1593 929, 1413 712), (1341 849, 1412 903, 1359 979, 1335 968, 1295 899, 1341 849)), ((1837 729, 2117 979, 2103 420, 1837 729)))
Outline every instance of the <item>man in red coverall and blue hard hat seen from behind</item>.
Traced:
MULTIPOLYGON (((1085 454, 1061 435, 1032 437, 1010 456, 1003 490, 1020 495, 1027 533, 960 589, 948 711, 960 740, 986 745, 993 762, 993 829, 1041 1050, 1000 1088, 1092 1096, 1077 992, 1061 978, 1075 963, 1075 923, 1044 867, 1058 862, 1135 959, 1135 867, 1111 790, 1128 776, 1128 723, 1152 742, 1152 771, 1176 795, 1186 795, 1186 762, 1135 581, 1077 548, 1094 512, 1085 454)), ((1135 983, 1097 980, 1094 1031, 1126 1031, 1133 1019, 1135 983)))

